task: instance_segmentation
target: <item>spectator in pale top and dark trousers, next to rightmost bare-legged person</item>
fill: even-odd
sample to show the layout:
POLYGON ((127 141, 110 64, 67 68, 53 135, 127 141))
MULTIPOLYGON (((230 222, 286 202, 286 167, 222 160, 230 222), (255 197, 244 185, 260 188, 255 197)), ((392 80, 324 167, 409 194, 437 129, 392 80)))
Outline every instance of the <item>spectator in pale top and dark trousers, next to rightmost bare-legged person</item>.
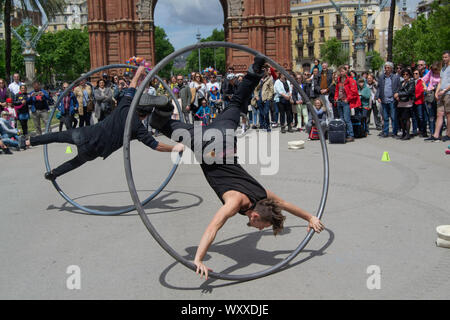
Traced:
POLYGON ((430 129, 430 135, 432 135, 434 134, 436 124, 436 88, 441 81, 438 62, 433 63, 430 72, 428 72, 422 80, 426 85, 425 117, 428 118, 428 127, 430 129))

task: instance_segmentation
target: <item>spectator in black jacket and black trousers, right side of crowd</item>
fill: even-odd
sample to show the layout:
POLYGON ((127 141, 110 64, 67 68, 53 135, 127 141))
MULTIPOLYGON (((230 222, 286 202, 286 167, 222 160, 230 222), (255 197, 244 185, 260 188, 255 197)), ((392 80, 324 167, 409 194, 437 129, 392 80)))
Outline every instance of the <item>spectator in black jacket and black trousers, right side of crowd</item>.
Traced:
POLYGON ((412 117, 412 106, 414 103, 414 91, 415 83, 414 79, 411 79, 411 70, 403 70, 403 82, 398 90, 397 100, 398 100, 398 115, 400 120, 400 127, 403 134, 400 139, 409 140, 410 134, 409 129, 411 128, 411 117, 412 117))

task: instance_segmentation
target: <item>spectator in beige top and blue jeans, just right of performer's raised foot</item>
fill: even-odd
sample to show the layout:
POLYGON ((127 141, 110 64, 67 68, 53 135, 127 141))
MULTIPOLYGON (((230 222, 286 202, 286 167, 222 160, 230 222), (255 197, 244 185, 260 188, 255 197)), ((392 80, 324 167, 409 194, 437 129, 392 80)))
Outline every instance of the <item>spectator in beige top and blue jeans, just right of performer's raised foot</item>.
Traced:
POLYGON ((256 105, 259 111, 259 127, 267 132, 272 131, 270 127, 270 105, 274 96, 273 76, 269 69, 264 72, 264 77, 260 80, 254 91, 256 105))

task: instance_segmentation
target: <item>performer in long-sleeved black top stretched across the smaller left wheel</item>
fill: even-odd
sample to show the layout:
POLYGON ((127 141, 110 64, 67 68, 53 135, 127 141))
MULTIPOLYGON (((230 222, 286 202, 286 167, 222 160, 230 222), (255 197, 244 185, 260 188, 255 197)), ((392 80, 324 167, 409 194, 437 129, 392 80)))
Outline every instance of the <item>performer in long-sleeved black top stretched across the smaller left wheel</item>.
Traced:
MULTIPOLYGON (((68 131, 48 133, 41 136, 31 137, 27 145, 37 146, 53 142, 70 143, 77 146, 78 154, 59 167, 45 173, 45 178, 55 180, 57 177, 72 171, 87 161, 98 157, 106 159, 111 153, 123 146, 123 134, 125 131, 125 121, 130 109, 131 101, 136 93, 136 87, 141 76, 144 76, 146 68, 141 66, 131 81, 119 106, 105 120, 93 126, 86 126, 68 131)), ((181 152, 184 145, 178 143, 174 146, 166 145, 156 141, 152 134, 142 124, 149 111, 137 107, 137 116, 133 117, 131 124, 131 139, 138 139, 146 146, 160 152, 181 152)))

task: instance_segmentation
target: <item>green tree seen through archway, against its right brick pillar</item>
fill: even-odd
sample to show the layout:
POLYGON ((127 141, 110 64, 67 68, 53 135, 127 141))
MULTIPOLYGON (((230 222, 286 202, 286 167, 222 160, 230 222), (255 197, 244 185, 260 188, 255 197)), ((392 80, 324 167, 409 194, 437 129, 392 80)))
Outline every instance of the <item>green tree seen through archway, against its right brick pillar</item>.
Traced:
MULTIPOLYGON (((212 34, 207 38, 202 38, 200 42, 209 41, 225 41, 225 31, 214 29, 212 34)), ((213 67, 218 70, 219 73, 225 73, 225 48, 206 48, 200 50, 200 60, 202 69, 213 67)), ((192 51, 187 58, 187 71, 198 70, 198 50, 192 51)))

